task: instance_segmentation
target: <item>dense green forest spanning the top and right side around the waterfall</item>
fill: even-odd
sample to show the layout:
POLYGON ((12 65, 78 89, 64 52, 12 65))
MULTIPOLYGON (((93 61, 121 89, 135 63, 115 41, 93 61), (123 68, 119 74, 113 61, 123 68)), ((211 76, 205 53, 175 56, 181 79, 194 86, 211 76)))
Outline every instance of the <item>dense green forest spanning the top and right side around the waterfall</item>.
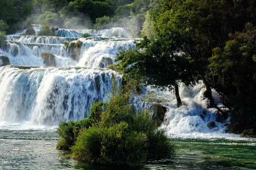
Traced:
MULTIPOLYGON (((69 29, 127 27, 143 37, 123 49, 114 68, 124 78, 174 88, 204 81, 209 107, 231 115, 230 133, 256 130, 254 0, 1 0, 0 31, 31 23, 69 29), (143 49, 143 50, 142 50, 143 49), (221 95, 221 110, 211 89, 221 95)), ((4 33, 1 32, 1 35, 4 33)), ((220 118, 221 119, 221 118, 220 118)))

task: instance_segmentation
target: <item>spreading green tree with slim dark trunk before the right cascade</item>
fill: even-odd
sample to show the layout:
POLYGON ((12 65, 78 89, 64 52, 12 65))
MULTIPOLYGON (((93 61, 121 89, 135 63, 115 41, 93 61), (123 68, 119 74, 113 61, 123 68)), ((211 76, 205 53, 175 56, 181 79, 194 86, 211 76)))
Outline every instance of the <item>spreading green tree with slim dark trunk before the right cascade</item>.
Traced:
POLYGON ((126 80, 135 79, 137 84, 152 85, 154 87, 175 88, 177 107, 180 100, 178 83, 190 86, 194 84, 191 64, 185 55, 180 53, 170 41, 144 37, 136 44, 136 49, 124 49, 117 54, 118 71, 122 71, 126 80), (143 50, 141 50, 143 49, 143 50))

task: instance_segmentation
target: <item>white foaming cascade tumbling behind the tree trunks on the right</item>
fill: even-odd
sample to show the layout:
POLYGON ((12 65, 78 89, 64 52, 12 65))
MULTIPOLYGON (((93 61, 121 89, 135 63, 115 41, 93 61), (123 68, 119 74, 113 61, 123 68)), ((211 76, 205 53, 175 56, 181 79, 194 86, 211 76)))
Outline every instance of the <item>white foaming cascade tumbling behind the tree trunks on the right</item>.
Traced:
MULTIPOLYGON (((169 99, 163 103, 167 108, 167 112, 162 124, 162 128, 166 129, 169 137, 171 138, 225 138, 229 140, 245 140, 240 138, 239 135, 225 133, 226 127, 223 123, 218 122, 218 111, 215 108, 207 108, 209 99, 204 97, 204 84, 199 81, 193 88, 180 84, 179 92, 180 98, 183 103, 182 106, 176 106, 177 101, 173 91, 168 89, 151 89, 149 86, 143 89, 143 94, 147 92, 156 93, 158 97, 169 99), (214 121, 216 127, 209 129, 207 123, 214 121)), ((136 100, 142 97, 139 95, 136 100)), ((212 89, 212 96, 215 103, 220 108, 224 108, 221 104, 218 93, 212 89)), ((152 105, 147 102, 138 102, 135 104, 136 108, 148 108, 152 110, 152 105)), ((247 140, 247 139, 246 139, 247 140)), ((249 139, 248 139, 249 140, 249 139)))

